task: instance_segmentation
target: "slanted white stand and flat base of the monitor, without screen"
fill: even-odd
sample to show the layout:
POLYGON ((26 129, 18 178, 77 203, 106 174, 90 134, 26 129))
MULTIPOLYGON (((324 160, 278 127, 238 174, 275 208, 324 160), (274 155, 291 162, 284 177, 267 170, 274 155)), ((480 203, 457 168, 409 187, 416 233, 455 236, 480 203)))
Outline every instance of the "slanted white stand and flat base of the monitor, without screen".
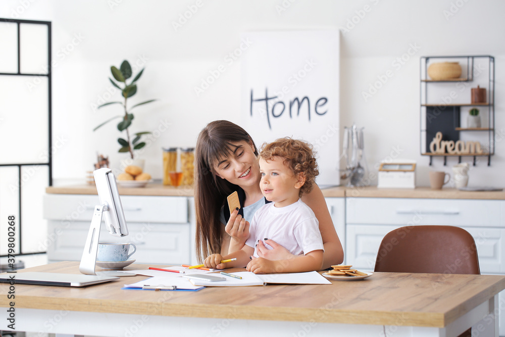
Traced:
POLYGON ((109 210, 107 205, 97 205, 94 208, 93 217, 89 226, 88 236, 84 244, 79 271, 85 275, 104 275, 104 276, 135 276, 134 273, 124 273, 116 270, 95 271, 96 254, 98 252, 98 241, 100 238, 100 226, 102 225, 102 216, 109 210))

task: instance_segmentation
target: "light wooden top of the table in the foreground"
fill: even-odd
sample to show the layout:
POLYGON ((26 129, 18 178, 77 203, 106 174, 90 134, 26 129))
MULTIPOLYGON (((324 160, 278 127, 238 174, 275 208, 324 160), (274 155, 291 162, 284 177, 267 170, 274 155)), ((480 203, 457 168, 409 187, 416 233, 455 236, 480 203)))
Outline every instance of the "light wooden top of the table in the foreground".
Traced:
MULTIPOLYGON (((78 262, 19 270, 78 274, 78 262)), ((147 269, 133 264, 125 270, 147 269)), ((16 308, 282 321, 444 327, 505 288, 505 276, 374 273, 332 284, 207 287, 197 292, 121 290, 147 276, 84 288, 16 284, 16 308)), ((0 283, 0 307, 9 284, 0 283)))

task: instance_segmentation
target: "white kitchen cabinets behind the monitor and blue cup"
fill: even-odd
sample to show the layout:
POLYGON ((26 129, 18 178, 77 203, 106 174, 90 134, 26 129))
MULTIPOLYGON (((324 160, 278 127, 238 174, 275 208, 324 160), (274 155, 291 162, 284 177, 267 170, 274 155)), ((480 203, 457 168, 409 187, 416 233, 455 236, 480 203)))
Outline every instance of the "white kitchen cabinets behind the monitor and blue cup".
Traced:
MULTIPOLYGON (((137 263, 182 264, 190 261, 192 239, 188 198, 121 196, 129 235, 112 236, 105 226, 100 242, 131 242, 137 263)), ((89 230, 96 195, 46 194, 43 214, 47 219, 44 242, 49 262, 80 261, 89 230)))

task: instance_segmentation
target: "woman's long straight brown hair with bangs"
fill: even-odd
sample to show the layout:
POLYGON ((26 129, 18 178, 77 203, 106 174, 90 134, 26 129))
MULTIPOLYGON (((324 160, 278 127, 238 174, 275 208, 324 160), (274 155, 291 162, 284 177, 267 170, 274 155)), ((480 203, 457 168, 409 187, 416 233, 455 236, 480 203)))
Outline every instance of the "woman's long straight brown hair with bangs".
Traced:
POLYGON ((210 122, 200 131, 195 148, 194 204, 198 261, 210 254, 221 253, 221 207, 237 185, 216 176, 214 164, 233 153, 232 143, 246 141, 258 149, 251 136, 240 126, 225 120, 210 122))

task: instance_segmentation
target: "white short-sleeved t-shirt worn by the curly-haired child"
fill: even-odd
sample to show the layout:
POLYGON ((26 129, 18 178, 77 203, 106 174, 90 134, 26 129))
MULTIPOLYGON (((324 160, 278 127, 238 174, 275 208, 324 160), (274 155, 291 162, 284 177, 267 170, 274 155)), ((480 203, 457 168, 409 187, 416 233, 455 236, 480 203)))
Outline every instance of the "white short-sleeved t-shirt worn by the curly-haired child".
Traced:
MULTIPOLYGON (((286 207, 266 204, 252 217, 249 233, 245 244, 254 247, 256 257, 258 240, 265 238, 274 240, 293 255, 324 250, 319 222, 311 208, 300 199, 286 207)), ((272 249, 269 245, 266 247, 272 249)))

